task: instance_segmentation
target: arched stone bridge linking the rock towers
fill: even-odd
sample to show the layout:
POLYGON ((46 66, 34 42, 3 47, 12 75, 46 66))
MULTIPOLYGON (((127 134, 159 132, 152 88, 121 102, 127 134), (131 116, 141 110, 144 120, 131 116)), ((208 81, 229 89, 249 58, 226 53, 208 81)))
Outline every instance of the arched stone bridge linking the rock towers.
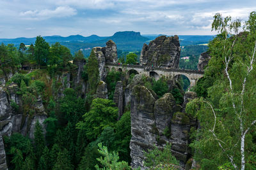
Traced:
POLYGON ((110 62, 106 62, 105 67, 109 70, 115 69, 116 71, 125 72, 125 74, 129 75, 132 72, 137 72, 138 74, 145 74, 145 76, 152 76, 156 80, 159 80, 161 76, 165 76, 167 78, 175 78, 178 75, 186 76, 190 81, 190 87, 196 85, 196 81, 199 78, 204 76, 204 71, 196 71, 190 69, 175 69, 170 67, 149 67, 149 66, 141 66, 141 65, 120 65, 113 64, 110 62))

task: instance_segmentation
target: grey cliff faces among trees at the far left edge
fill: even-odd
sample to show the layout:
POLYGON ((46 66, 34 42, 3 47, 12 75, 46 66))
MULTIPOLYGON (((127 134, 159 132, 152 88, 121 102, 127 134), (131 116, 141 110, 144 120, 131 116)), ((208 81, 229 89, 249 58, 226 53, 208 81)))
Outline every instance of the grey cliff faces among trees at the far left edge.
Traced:
POLYGON ((45 118, 47 118, 42 98, 38 96, 36 103, 33 106, 33 108, 35 108, 35 115, 33 117, 23 115, 19 109, 14 109, 11 106, 11 102, 17 104, 19 107, 22 106, 20 96, 15 93, 17 85, 12 84, 7 87, 7 89, 8 95, 6 94, 6 91, 0 87, 0 135, 10 136, 12 132, 20 132, 24 136, 28 134, 29 137, 33 138, 33 133, 35 131, 33 124, 38 120, 44 127, 43 122, 45 118))

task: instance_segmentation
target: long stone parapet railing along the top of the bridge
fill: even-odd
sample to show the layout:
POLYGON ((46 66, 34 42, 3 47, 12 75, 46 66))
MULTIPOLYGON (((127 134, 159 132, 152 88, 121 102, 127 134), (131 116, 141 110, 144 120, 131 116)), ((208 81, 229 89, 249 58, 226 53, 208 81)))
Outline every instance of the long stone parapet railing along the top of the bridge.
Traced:
POLYGON ((140 68, 140 69, 145 69, 146 71, 159 70, 159 71, 170 71, 170 72, 180 72, 180 73, 204 74, 204 71, 198 71, 193 69, 176 69, 171 67, 150 67, 150 66, 141 66, 141 65, 114 64, 113 62, 106 62, 105 66, 140 68))

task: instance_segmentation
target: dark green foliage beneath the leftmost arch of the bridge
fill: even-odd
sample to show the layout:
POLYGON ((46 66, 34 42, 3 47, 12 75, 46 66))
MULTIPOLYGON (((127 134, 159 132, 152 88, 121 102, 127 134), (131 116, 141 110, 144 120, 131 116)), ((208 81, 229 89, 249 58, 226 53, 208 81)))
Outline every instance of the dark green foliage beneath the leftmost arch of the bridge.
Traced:
POLYGON ((108 86, 108 97, 113 100, 116 82, 121 80, 122 72, 120 71, 109 71, 106 76, 106 83, 108 86))

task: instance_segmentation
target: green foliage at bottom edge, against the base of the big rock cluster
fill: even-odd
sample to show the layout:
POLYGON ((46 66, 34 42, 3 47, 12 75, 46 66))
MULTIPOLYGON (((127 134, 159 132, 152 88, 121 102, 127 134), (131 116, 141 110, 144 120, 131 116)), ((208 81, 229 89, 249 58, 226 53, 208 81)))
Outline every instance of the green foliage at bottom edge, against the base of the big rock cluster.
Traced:
POLYGON ((146 157, 144 165, 149 169, 159 169, 159 167, 164 167, 163 169, 178 169, 177 165, 179 164, 172 155, 171 148, 172 145, 170 143, 164 146, 163 150, 154 146, 154 149, 144 153, 146 157))

